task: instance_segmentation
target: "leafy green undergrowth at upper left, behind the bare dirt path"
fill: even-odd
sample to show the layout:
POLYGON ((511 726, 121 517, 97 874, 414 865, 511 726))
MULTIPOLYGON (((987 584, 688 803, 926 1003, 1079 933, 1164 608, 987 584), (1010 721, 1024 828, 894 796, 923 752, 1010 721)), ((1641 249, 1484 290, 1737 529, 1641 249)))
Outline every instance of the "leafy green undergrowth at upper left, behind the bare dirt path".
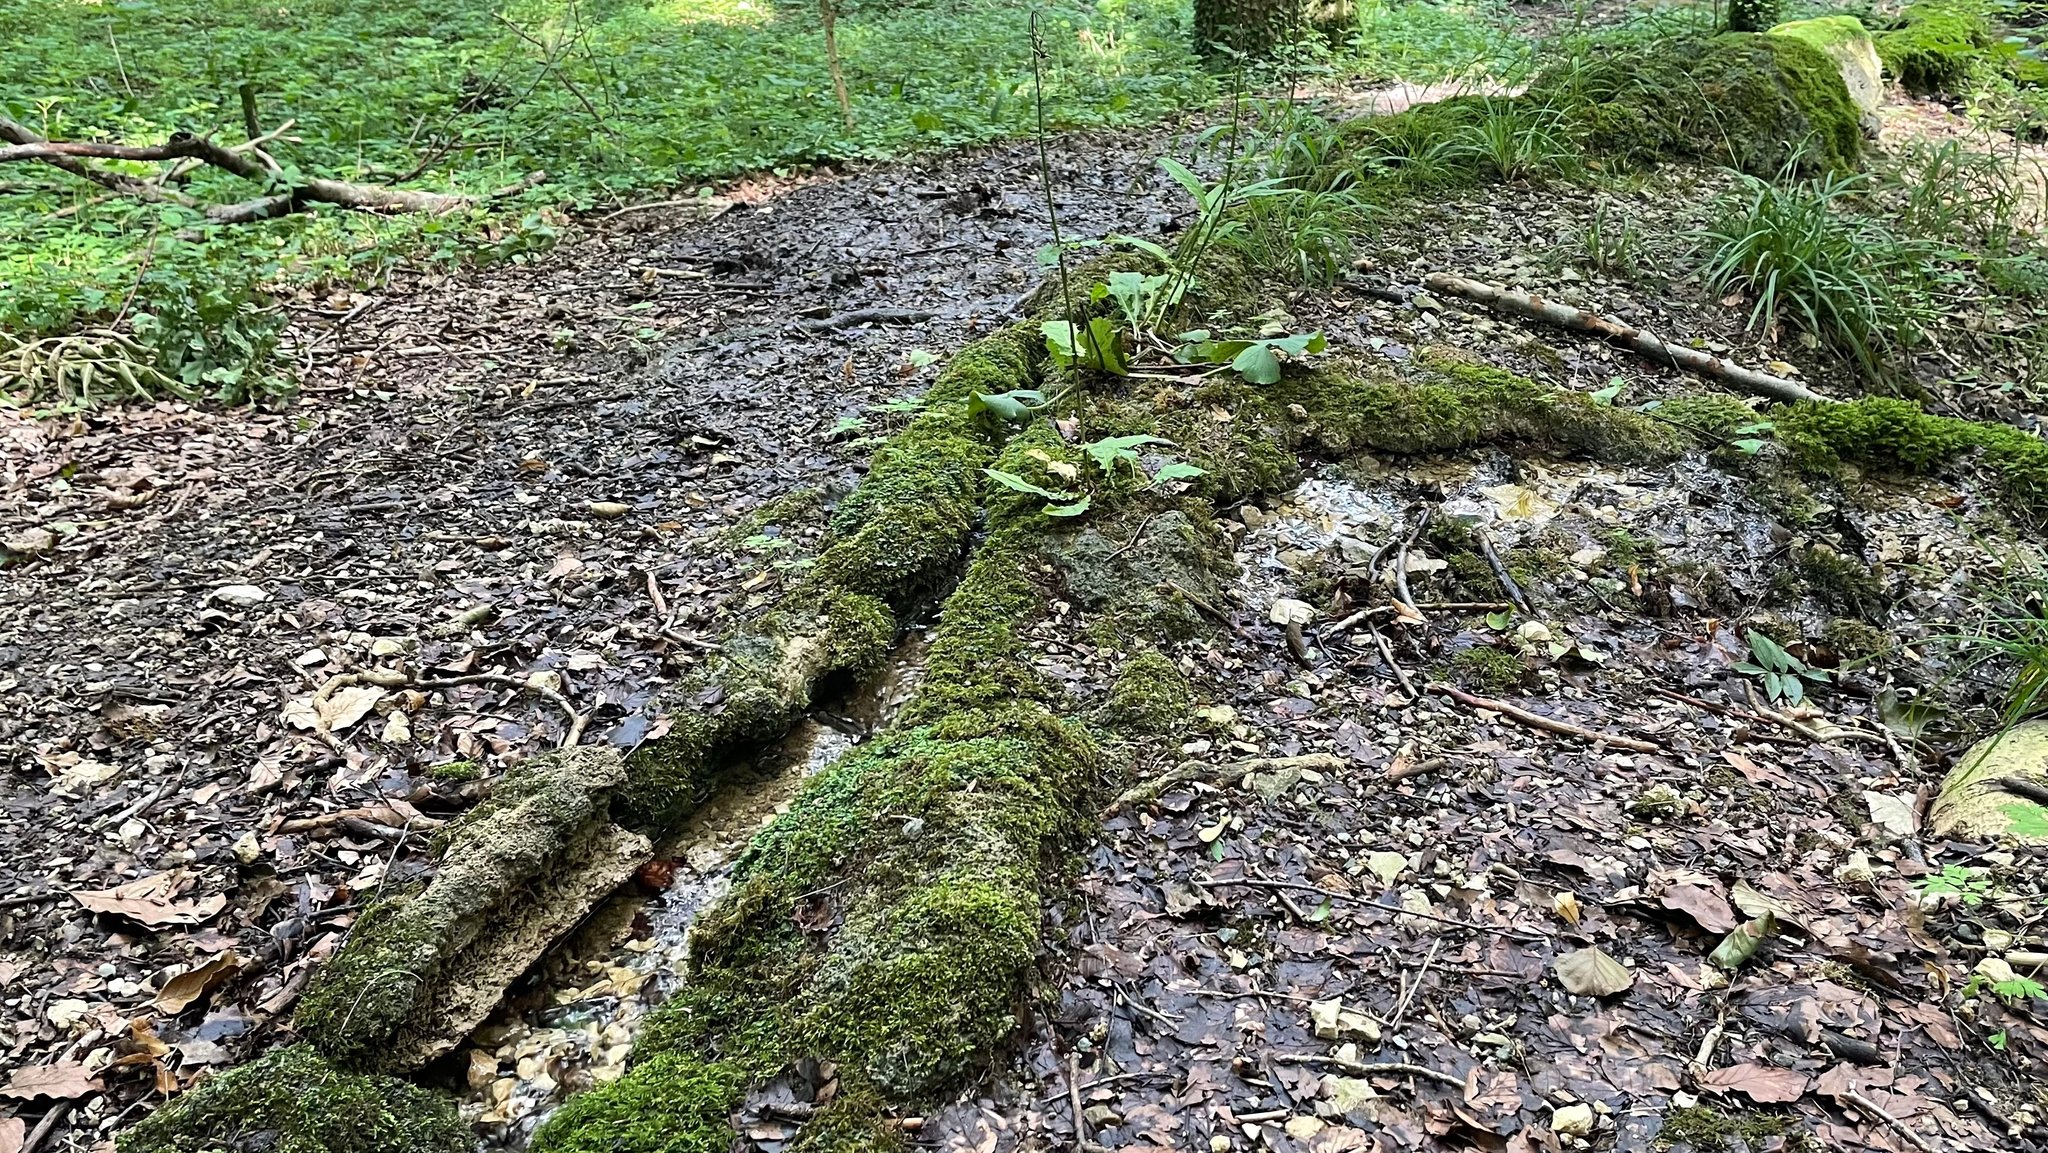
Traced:
MULTIPOLYGON (((287 385, 268 348, 240 350, 217 334, 233 319, 264 338, 283 319, 279 291, 371 285, 397 262, 522 260, 563 227, 555 209, 1026 133, 1036 125, 1034 14, 1053 129, 1147 123, 1217 90, 1192 49, 1186 6, 1161 0, 846 6, 836 39, 852 129, 834 100, 815 4, 0 0, 0 111, 51 139, 160 143, 197 131, 238 143, 246 84, 262 129, 291 121, 270 147, 307 176, 408 176, 401 186, 475 195, 549 174, 451 215, 319 207, 211 225, 182 207, 106 197, 55 168, 10 164, 0 182, 0 334, 162 315, 188 332, 145 340, 154 356, 176 356, 180 336, 201 340, 195 395, 262 397, 287 385)), ((207 168, 180 184, 219 203, 262 193, 207 168)), ((76 385, 45 385, 29 403, 76 403, 76 385)), ((98 399, 117 385, 100 375, 98 399)), ((0 377, 8 387, 23 383, 0 377)))

